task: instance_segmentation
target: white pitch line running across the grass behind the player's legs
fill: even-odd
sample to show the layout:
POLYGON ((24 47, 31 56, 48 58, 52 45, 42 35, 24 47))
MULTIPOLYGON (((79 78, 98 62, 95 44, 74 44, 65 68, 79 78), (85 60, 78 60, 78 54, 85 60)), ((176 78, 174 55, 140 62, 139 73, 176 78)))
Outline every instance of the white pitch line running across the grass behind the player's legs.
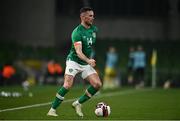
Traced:
MULTIPOLYGON (((145 89, 146 91, 148 89, 145 89)), ((143 90, 127 90, 127 91, 118 91, 118 92, 112 92, 112 93, 105 93, 105 94, 99 94, 97 96, 95 96, 94 98, 102 98, 102 97, 111 97, 111 96, 116 96, 116 95, 124 95, 124 94, 132 94, 132 93, 136 93, 136 92, 140 92, 140 91, 145 91, 143 90)), ((67 102, 71 102, 74 101, 76 98, 73 99, 67 99, 65 101, 63 101, 63 103, 67 103, 67 102)), ((0 110, 0 112, 7 112, 7 111, 13 111, 13 110, 21 110, 21 109, 27 109, 27 108, 32 108, 32 107, 41 107, 41 106, 47 106, 50 105, 52 102, 47 102, 47 103, 39 103, 39 104, 34 104, 34 105, 27 105, 27 106, 21 106, 21 107, 16 107, 16 108, 7 108, 7 109, 3 109, 0 110)))

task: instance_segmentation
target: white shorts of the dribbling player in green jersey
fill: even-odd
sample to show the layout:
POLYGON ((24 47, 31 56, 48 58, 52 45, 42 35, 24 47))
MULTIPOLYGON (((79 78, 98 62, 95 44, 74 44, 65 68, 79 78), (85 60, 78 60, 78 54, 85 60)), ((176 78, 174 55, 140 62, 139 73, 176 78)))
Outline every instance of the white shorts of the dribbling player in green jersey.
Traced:
POLYGON ((75 61, 67 60, 65 74, 75 77, 77 73, 81 73, 82 78, 85 79, 89 75, 97 72, 90 65, 80 65, 75 61))

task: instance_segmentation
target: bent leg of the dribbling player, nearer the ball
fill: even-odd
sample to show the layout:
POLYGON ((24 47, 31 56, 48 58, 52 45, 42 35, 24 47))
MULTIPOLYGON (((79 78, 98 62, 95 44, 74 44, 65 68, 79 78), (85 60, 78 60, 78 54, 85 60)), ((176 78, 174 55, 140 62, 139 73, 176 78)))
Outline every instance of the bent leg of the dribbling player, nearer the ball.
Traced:
POLYGON ((102 86, 101 80, 97 73, 93 73, 87 76, 86 80, 90 82, 90 86, 86 89, 85 94, 83 94, 78 100, 72 103, 72 106, 75 108, 78 116, 83 117, 81 111, 81 104, 89 100, 102 86))

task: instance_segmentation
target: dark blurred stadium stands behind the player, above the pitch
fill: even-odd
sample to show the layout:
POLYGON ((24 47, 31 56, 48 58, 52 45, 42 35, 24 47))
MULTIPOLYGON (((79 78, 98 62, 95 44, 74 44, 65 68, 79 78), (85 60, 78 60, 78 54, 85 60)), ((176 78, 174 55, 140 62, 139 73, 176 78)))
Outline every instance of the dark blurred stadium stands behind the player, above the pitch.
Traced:
MULTIPOLYGON (((180 80, 179 0, 4 0, 0 2, 0 68, 19 60, 54 59, 65 67, 70 33, 79 24, 79 9, 95 10, 97 67, 103 76, 105 51, 118 48, 121 78, 126 82, 128 48, 142 44, 147 52, 147 85, 150 84, 152 49, 158 52, 158 84, 180 80), (101 63, 101 64, 100 64, 101 63)), ((33 63, 33 62, 32 62, 33 63)), ((17 67, 18 68, 18 67, 17 67)), ((38 68, 38 67, 37 67, 38 68)), ((18 70, 18 69, 17 69, 18 70)), ((18 81, 23 79, 18 73, 18 81)), ((125 83, 124 82, 124 83, 125 83)))

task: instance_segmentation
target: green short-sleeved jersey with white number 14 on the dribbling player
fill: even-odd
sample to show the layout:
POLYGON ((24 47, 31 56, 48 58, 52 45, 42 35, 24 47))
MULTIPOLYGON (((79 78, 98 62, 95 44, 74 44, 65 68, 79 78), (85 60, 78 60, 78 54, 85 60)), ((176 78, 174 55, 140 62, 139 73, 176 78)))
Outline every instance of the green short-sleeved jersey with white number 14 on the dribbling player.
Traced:
POLYGON ((70 53, 68 54, 67 60, 75 61, 81 65, 87 65, 87 63, 83 60, 81 60, 77 54, 74 47, 75 42, 81 42, 82 43, 82 52, 83 54, 90 58, 91 53, 93 52, 92 46, 94 45, 96 41, 96 34, 97 34, 97 27, 91 26, 90 28, 86 29, 83 25, 77 26, 71 35, 72 39, 72 46, 70 53))

